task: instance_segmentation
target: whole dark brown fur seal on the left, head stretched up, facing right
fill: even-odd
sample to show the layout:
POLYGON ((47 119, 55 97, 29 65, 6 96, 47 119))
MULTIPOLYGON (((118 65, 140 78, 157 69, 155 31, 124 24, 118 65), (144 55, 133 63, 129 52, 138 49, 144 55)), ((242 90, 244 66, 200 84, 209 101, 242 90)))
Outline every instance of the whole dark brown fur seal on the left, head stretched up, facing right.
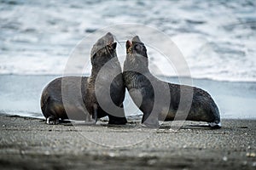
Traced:
POLYGON ((113 35, 110 32, 94 44, 90 52, 90 61, 92 65, 90 77, 60 77, 49 82, 44 88, 41 96, 41 109, 48 124, 55 124, 60 119, 90 120, 88 116, 95 120, 108 116, 109 124, 127 122, 123 108, 125 86, 116 54, 116 42, 113 42, 113 35), (104 66, 103 72, 108 74, 98 75, 106 63, 108 66, 104 66), (113 77, 115 74, 117 76, 113 77), (100 78, 96 86, 97 76, 100 78), (108 89, 106 84, 111 84, 111 99, 105 95, 106 93, 102 93, 100 98, 104 99, 104 105, 113 103, 120 107, 118 113, 112 114, 104 111, 96 99, 96 92, 101 93, 102 89, 108 89))

